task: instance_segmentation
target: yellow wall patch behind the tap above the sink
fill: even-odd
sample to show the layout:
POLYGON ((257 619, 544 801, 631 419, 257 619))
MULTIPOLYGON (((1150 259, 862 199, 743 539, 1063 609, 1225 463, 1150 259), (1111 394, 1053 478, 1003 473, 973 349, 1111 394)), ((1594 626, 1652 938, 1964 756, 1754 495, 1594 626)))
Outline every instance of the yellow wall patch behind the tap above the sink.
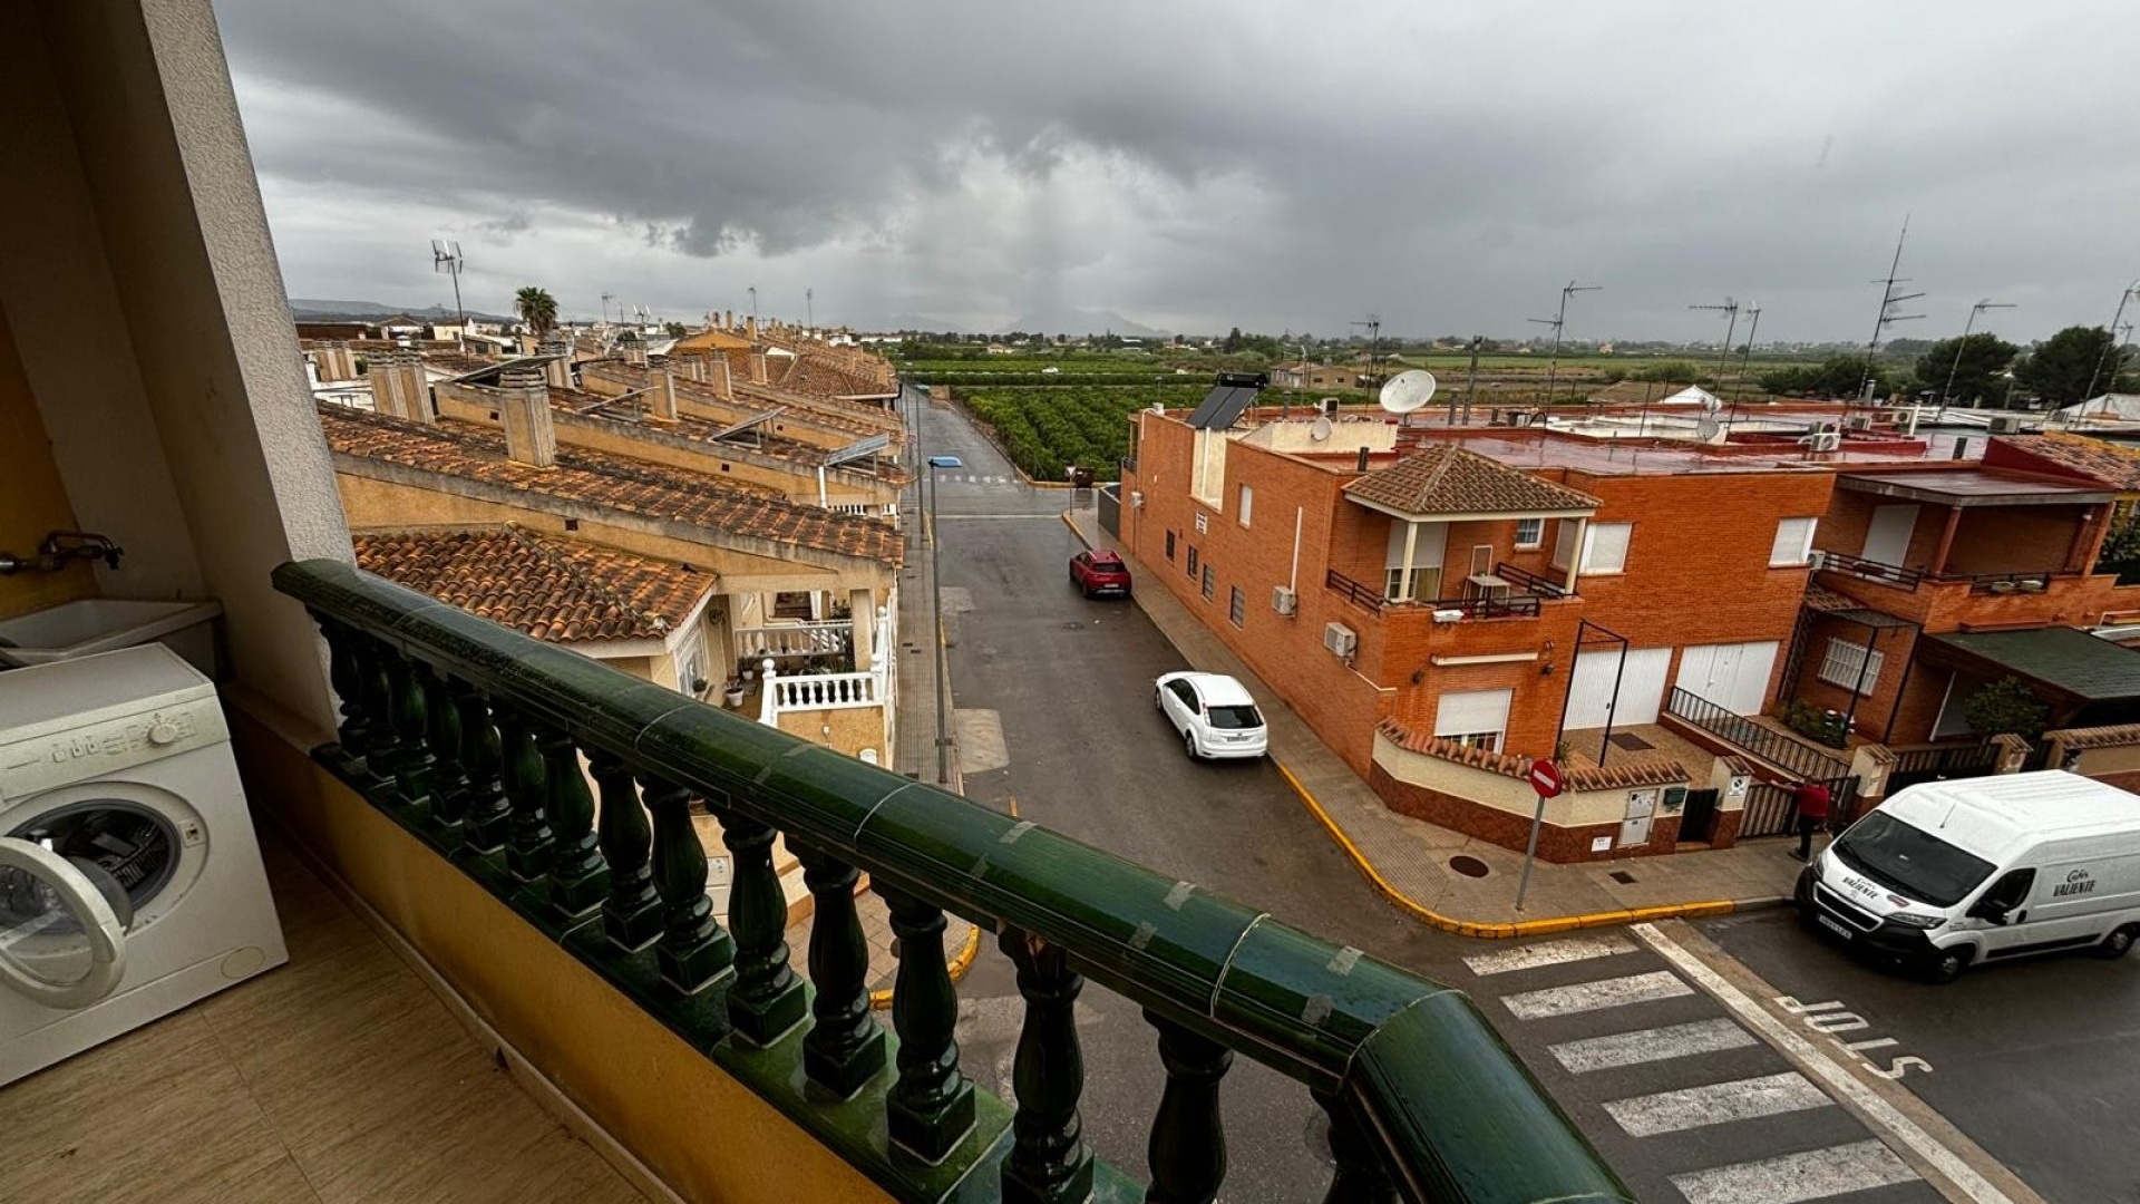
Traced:
MULTIPOLYGON (((15 334, 0 313, 0 551, 34 555, 47 531, 73 531, 75 510, 51 458, 45 420, 30 396, 30 379, 15 353, 15 334)), ((0 619, 96 596, 96 574, 88 561, 64 572, 17 572, 0 576, 0 619)))

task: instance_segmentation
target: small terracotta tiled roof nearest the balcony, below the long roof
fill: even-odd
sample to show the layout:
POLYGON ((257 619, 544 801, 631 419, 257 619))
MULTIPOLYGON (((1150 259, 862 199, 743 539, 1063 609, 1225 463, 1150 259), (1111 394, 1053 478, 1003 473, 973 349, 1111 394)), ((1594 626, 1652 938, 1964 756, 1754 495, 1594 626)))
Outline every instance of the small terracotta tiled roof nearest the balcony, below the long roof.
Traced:
POLYGON ((355 546, 366 572, 552 643, 659 638, 717 583, 713 572, 516 523, 360 531, 355 546))

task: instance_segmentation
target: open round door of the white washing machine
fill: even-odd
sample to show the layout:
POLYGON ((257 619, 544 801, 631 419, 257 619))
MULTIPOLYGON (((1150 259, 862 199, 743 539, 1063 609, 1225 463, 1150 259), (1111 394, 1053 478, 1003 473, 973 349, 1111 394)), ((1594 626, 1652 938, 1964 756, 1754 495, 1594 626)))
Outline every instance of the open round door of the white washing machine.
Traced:
POLYGON ((45 1007, 88 1007, 126 973, 126 891, 101 870, 0 836, 0 990, 45 1007))

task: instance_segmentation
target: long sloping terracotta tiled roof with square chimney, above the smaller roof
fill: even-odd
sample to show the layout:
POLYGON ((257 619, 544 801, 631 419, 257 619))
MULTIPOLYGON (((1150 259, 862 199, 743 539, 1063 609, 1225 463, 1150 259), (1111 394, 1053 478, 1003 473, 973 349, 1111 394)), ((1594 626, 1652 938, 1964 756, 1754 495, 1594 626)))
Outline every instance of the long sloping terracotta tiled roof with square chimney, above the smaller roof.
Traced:
POLYGON ((496 431, 464 422, 426 426, 336 405, 319 407, 319 424, 327 446, 345 456, 691 523, 740 538, 880 563, 901 561, 901 536, 890 523, 745 493, 734 482, 648 461, 559 448, 556 465, 539 469, 507 458, 505 437, 496 431))

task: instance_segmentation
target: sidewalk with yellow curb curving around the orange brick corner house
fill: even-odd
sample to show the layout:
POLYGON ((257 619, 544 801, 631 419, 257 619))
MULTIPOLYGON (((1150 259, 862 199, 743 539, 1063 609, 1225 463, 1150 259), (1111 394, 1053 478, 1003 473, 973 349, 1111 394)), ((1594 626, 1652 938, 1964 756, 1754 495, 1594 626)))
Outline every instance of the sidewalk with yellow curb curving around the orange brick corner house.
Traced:
MULTIPOLYGON (((1156 572, 1100 529, 1096 510, 1064 512, 1064 523, 1087 546, 1119 551, 1136 572, 1156 572)), ((1795 842, 1755 840, 1731 848, 1616 857, 1579 866, 1537 861, 1524 893, 1524 910, 1515 910, 1522 853, 1389 810, 1367 782, 1168 589, 1138 589, 1134 598, 1183 660, 1207 673, 1239 677, 1256 694, 1271 726, 1271 761, 1299 793, 1301 806, 1378 891, 1423 923, 1464 936, 1532 936, 1780 906, 1791 898, 1800 870, 1800 861, 1789 855, 1795 842), (1451 866, 1457 857, 1483 863, 1485 874, 1457 872, 1451 866)))

